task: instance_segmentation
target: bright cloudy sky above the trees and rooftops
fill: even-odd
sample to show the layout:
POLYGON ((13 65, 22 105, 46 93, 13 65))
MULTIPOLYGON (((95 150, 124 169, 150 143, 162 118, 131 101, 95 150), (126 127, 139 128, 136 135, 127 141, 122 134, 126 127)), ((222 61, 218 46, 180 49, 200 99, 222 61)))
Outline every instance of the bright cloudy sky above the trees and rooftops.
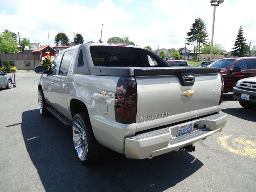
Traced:
MULTIPOLYGON (((256 45, 255 0, 224 0, 216 7, 214 43, 231 51, 240 25, 246 43, 256 45)), ((211 41, 210 0, 0 0, 0 32, 8 29, 30 42, 54 46, 58 32, 86 42, 129 36, 140 47, 181 48, 196 18, 206 23, 211 41), (103 26, 102 26, 103 24, 103 26)), ((187 46, 190 50, 194 46, 187 46)))

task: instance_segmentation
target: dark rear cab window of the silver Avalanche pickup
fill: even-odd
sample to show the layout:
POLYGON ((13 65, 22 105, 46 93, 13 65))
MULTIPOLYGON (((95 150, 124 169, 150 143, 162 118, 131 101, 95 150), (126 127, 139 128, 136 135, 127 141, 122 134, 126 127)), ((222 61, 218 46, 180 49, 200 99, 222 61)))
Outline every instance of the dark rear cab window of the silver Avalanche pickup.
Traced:
MULTIPOLYGON (((125 46, 91 46, 94 66, 150 67, 163 66, 157 58, 140 48, 125 46)), ((165 62, 166 63, 166 62, 165 62)), ((168 64, 166 63, 166 65, 168 64)))

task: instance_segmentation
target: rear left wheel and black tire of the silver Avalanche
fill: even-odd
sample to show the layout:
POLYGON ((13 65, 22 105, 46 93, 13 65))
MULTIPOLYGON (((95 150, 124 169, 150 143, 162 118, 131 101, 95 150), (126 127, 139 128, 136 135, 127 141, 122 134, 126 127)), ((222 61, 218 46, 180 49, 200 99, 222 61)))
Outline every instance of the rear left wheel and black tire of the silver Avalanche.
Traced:
POLYGON ((82 164, 92 165, 104 160, 106 148, 96 140, 90 119, 85 112, 74 116, 72 134, 76 154, 82 164))

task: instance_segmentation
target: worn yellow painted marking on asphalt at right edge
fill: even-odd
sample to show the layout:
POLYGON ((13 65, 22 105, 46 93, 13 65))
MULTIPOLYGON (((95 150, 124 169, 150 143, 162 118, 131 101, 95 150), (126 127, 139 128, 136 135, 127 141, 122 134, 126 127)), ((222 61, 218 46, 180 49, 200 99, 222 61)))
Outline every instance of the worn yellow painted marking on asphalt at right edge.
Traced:
POLYGON ((224 135, 218 138, 221 146, 228 151, 250 158, 256 158, 256 137, 251 136, 250 140, 242 136, 224 135))

